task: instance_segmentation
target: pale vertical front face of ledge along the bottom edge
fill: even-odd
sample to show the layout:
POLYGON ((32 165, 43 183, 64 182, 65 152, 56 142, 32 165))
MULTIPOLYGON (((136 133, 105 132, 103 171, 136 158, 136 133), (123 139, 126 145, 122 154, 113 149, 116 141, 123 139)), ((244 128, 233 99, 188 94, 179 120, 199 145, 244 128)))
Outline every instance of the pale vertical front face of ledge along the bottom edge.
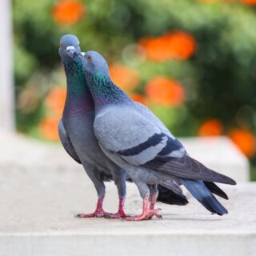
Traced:
POLYGON ((6 245, 0 245, 2 255, 253 256, 256 234, 22 234, 0 239, 6 245))

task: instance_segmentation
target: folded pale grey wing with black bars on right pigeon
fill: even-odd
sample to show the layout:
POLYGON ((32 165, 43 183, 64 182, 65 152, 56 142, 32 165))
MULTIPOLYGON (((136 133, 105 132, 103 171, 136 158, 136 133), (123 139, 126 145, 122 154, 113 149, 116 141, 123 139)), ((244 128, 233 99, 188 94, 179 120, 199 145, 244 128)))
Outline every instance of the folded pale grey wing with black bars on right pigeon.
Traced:
POLYGON ((94 133, 105 150, 135 166, 178 178, 234 184, 186 155, 181 142, 166 134, 132 106, 111 106, 99 113, 94 133))

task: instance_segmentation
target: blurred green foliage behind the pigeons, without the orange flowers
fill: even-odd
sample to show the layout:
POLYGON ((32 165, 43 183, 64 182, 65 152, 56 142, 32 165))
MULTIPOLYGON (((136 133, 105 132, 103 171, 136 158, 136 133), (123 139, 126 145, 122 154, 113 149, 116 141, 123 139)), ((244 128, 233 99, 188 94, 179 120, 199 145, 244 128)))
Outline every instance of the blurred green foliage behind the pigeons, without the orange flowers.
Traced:
MULTIPOLYGON (((14 1, 14 54, 17 98, 34 86, 38 103, 25 111, 18 106, 18 129, 31 133, 45 113, 44 98, 63 84, 58 42, 76 34, 82 50, 97 50, 108 62, 138 70, 143 92, 154 75, 177 79, 186 90, 179 107, 152 106, 177 136, 195 135, 207 118, 218 118, 223 133, 240 127, 255 134, 256 126, 256 11, 239 2, 203 3, 193 0, 86 0, 85 14, 72 26, 54 21, 59 1, 14 1), (126 58, 126 46, 140 38, 172 30, 193 35, 197 50, 184 60, 168 62, 126 58)), ((255 158, 252 162, 256 164, 255 158)))

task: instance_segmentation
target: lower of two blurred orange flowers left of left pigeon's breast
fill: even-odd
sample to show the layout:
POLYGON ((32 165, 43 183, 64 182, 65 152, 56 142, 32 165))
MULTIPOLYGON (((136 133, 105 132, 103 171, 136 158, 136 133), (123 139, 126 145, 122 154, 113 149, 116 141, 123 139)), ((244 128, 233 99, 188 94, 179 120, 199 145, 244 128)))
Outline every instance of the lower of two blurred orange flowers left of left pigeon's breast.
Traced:
POLYGON ((59 118, 43 118, 39 122, 39 134, 50 141, 58 141, 58 121, 59 118))

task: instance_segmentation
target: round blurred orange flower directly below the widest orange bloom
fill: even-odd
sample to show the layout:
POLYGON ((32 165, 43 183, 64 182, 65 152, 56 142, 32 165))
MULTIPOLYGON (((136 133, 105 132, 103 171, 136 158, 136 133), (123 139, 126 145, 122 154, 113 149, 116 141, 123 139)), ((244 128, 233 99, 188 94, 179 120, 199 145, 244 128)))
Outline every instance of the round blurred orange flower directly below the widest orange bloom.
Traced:
POLYGON ((179 106, 185 99, 182 85, 165 77, 151 78, 146 84, 146 95, 152 102, 165 106, 179 106))

